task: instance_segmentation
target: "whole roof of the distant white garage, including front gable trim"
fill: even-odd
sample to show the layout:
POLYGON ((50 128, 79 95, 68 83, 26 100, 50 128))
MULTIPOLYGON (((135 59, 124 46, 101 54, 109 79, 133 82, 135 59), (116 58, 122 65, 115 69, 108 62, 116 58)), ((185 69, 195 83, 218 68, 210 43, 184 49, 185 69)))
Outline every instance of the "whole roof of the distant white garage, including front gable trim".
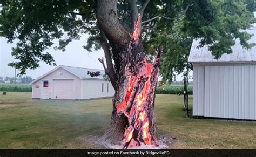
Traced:
POLYGON ((42 79, 43 77, 48 76, 48 74, 52 73, 53 71, 56 71, 59 68, 65 69, 66 71, 74 74, 75 76, 79 77, 80 79, 103 79, 103 75, 105 74, 104 70, 100 70, 100 69, 89 69, 89 68, 85 68, 85 67, 73 67, 73 66, 59 65, 59 66, 55 67, 55 69, 52 69, 48 73, 45 73, 41 77, 38 77, 37 79, 33 80, 30 84, 33 84, 36 81, 38 81, 39 79, 42 79), (100 75, 97 77, 91 77, 89 74, 87 74, 88 71, 90 71, 90 72, 99 71, 100 75))

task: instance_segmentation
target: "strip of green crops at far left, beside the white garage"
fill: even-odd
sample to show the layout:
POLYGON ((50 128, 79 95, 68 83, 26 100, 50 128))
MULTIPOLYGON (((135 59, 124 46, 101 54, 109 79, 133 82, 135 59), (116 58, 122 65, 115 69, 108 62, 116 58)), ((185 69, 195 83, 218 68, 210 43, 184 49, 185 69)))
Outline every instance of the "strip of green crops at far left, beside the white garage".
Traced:
POLYGON ((32 92, 30 84, 3 84, 0 83, 0 91, 3 92, 32 92))

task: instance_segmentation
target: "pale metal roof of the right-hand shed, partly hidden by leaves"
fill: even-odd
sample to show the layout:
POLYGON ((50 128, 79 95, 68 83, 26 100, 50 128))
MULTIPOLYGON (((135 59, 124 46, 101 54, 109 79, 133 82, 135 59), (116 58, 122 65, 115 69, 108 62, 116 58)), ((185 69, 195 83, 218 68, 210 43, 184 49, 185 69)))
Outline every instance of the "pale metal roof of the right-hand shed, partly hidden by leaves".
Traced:
MULTIPOLYGON (((254 35, 248 43, 256 43, 256 28, 246 29, 246 32, 254 35)), ((188 62, 256 62, 256 46, 247 50, 240 45, 239 39, 236 39, 235 45, 232 46, 233 53, 224 53, 218 60, 208 51, 207 45, 198 49, 199 42, 200 40, 193 40, 188 62)))

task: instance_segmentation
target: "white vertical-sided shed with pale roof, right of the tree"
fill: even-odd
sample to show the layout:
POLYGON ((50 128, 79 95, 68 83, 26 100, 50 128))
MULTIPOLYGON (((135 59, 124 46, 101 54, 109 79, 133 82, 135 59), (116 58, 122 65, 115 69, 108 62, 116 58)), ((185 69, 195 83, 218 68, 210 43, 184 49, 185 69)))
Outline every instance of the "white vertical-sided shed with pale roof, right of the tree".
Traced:
MULTIPOLYGON (((254 36, 256 28, 246 30, 254 36)), ((256 120, 256 46, 243 48, 239 40, 233 53, 214 59, 207 46, 194 40, 189 62, 193 64, 193 116, 256 120)))

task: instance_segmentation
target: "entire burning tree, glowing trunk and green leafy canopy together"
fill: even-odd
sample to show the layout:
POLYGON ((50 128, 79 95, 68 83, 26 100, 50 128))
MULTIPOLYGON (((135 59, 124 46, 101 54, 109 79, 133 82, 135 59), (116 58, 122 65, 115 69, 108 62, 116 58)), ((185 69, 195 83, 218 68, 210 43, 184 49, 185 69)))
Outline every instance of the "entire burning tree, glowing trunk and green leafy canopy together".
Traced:
MULTIPOLYGON (((167 58, 163 63, 178 62, 178 51, 169 55, 175 50, 170 47, 170 36, 176 19, 181 19, 183 32, 203 39, 202 45, 210 44, 218 58, 232 52, 234 38, 240 38, 245 47, 252 46, 246 43, 250 35, 240 32, 253 22, 255 8, 251 3, 254 1, 6 0, 0 2, 0 36, 8 42, 18 39, 12 49, 18 62, 9 65, 25 74, 26 69, 39 67, 39 60, 55 64, 45 52, 53 39, 59 39, 55 48, 64 51, 73 39, 89 34, 84 48, 91 51, 92 47, 102 47, 106 65, 103 59, 99 61, 116 90, 112 122, 104 137, 112 142, 122 140, 124 148, 156 145, 154 98, 160 54, 163 51, 167 58)), ((170 69, 162 71, 167 73, 164 76, 172 73, 170 69)))

